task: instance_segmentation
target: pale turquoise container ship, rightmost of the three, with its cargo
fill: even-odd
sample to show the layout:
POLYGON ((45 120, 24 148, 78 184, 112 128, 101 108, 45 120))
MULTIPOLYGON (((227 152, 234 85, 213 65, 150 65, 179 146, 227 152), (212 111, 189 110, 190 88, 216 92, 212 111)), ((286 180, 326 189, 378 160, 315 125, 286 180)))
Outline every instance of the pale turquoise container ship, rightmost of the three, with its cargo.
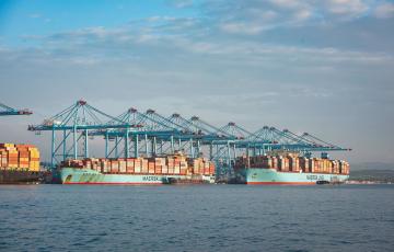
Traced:
POLYGON ((235 161, 235 181, 242 184, 332 184, 349 179, 349 163, 328 158, 298 154, 240 157, 235 161))

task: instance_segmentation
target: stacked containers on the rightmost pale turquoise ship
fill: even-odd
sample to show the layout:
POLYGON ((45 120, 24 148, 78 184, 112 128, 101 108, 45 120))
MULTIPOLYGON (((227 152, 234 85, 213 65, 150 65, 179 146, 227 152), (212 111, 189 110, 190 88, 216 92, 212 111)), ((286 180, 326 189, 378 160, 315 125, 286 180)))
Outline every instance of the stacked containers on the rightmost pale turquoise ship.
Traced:
POLYGON ((260 168, 276 169, 281 172, 349 174, 349 163, 344 160, 305 158, 296 154, 240 157, 235 169, 260 168))

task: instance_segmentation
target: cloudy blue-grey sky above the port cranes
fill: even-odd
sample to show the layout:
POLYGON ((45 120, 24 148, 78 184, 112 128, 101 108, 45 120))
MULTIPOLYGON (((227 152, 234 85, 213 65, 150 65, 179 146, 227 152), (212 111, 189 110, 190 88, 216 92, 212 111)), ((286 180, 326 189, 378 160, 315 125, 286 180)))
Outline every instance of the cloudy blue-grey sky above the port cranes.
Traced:
MULTIPOLYGON (((312 133, 394 163, 394 1, 0 0, 0 141, 49 156, 40 124, 77 100, 312 133)), ((103 147, 95 147, 102 148, 103 147)))

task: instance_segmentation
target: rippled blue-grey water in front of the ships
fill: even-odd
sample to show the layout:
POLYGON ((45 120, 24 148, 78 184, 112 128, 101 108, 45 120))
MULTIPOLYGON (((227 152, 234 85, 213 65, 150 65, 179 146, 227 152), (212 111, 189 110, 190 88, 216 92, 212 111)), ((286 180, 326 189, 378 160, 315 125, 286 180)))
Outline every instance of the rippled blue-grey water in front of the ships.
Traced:
POLYGON ((394 186, 0 186, 1 251, 391 251, 394 186))

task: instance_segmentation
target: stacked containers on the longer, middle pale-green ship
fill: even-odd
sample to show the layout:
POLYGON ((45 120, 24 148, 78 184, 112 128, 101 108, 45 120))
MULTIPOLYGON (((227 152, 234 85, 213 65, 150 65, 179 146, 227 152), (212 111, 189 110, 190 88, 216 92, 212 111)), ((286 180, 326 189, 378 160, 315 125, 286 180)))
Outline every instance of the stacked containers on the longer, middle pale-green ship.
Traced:
POLYGON ((215 164, 204 158, 174 154, 155 158, 66 160, 60 168, 92 169, 104 174, 213 175, 215 164))

